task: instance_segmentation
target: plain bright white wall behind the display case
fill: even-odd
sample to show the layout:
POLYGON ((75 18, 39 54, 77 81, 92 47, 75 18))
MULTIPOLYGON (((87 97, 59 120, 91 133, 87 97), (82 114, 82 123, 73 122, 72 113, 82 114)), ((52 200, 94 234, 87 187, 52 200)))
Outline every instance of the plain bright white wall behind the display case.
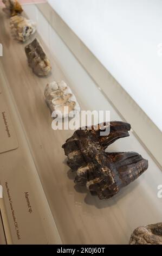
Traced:
POLYGON ((162 131, 162 1, 48 2, 162 131))

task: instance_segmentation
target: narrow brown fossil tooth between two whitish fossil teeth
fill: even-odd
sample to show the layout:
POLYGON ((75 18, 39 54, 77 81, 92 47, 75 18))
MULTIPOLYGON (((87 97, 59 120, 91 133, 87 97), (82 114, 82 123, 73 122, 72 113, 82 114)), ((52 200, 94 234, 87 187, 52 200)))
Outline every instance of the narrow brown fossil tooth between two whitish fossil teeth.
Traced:
POLYGON ((49 74, 51 70, 50 62, 37 39, 34 39, 33 42, 25 46, 25 53, 28 58, 29 66, 36 75, 47 76, 49 74))

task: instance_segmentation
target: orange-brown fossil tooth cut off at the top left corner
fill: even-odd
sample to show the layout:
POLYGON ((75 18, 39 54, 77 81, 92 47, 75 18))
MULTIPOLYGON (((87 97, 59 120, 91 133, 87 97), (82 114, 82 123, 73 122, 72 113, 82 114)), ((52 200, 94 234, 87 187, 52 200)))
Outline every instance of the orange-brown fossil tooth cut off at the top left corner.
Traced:
POLYGON ((7 11, 10 16, 21 14, 23 11, 21 4, 17 0, 2 0, 2 2, 5 4, 4 11, 7 11))

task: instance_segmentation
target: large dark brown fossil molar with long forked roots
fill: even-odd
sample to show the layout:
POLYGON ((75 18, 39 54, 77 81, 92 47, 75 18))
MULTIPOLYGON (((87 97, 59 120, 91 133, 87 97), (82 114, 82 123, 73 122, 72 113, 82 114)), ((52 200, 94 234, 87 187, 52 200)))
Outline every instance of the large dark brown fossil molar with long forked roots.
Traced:
MULTIPOLYGON (((103 126, 107 127, 108 124, 103 126)), ((105 152, 116 139, 129 136, 131 126, 121 121, 112 121, 109 128, 108 136, 100 136, 99 125, 76 130, 62 146, 68 156, 68 166, 76 172, 74 182, 86 185, 90 193, 100 199, 113 197, 148 168, 148 161, 138 153, 105 152)))

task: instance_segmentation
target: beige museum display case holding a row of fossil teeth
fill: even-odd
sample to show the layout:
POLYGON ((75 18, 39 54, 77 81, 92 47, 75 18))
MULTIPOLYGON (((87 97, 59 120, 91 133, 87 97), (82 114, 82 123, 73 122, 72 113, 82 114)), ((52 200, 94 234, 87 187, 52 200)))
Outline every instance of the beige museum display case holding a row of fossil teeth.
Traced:
POLYGON ((0 243, 133 243, 161 222, 161 131, 49 3, 3 8, 0 243), (54 129, 62 106, 108 111, 109 135, 54 129))

